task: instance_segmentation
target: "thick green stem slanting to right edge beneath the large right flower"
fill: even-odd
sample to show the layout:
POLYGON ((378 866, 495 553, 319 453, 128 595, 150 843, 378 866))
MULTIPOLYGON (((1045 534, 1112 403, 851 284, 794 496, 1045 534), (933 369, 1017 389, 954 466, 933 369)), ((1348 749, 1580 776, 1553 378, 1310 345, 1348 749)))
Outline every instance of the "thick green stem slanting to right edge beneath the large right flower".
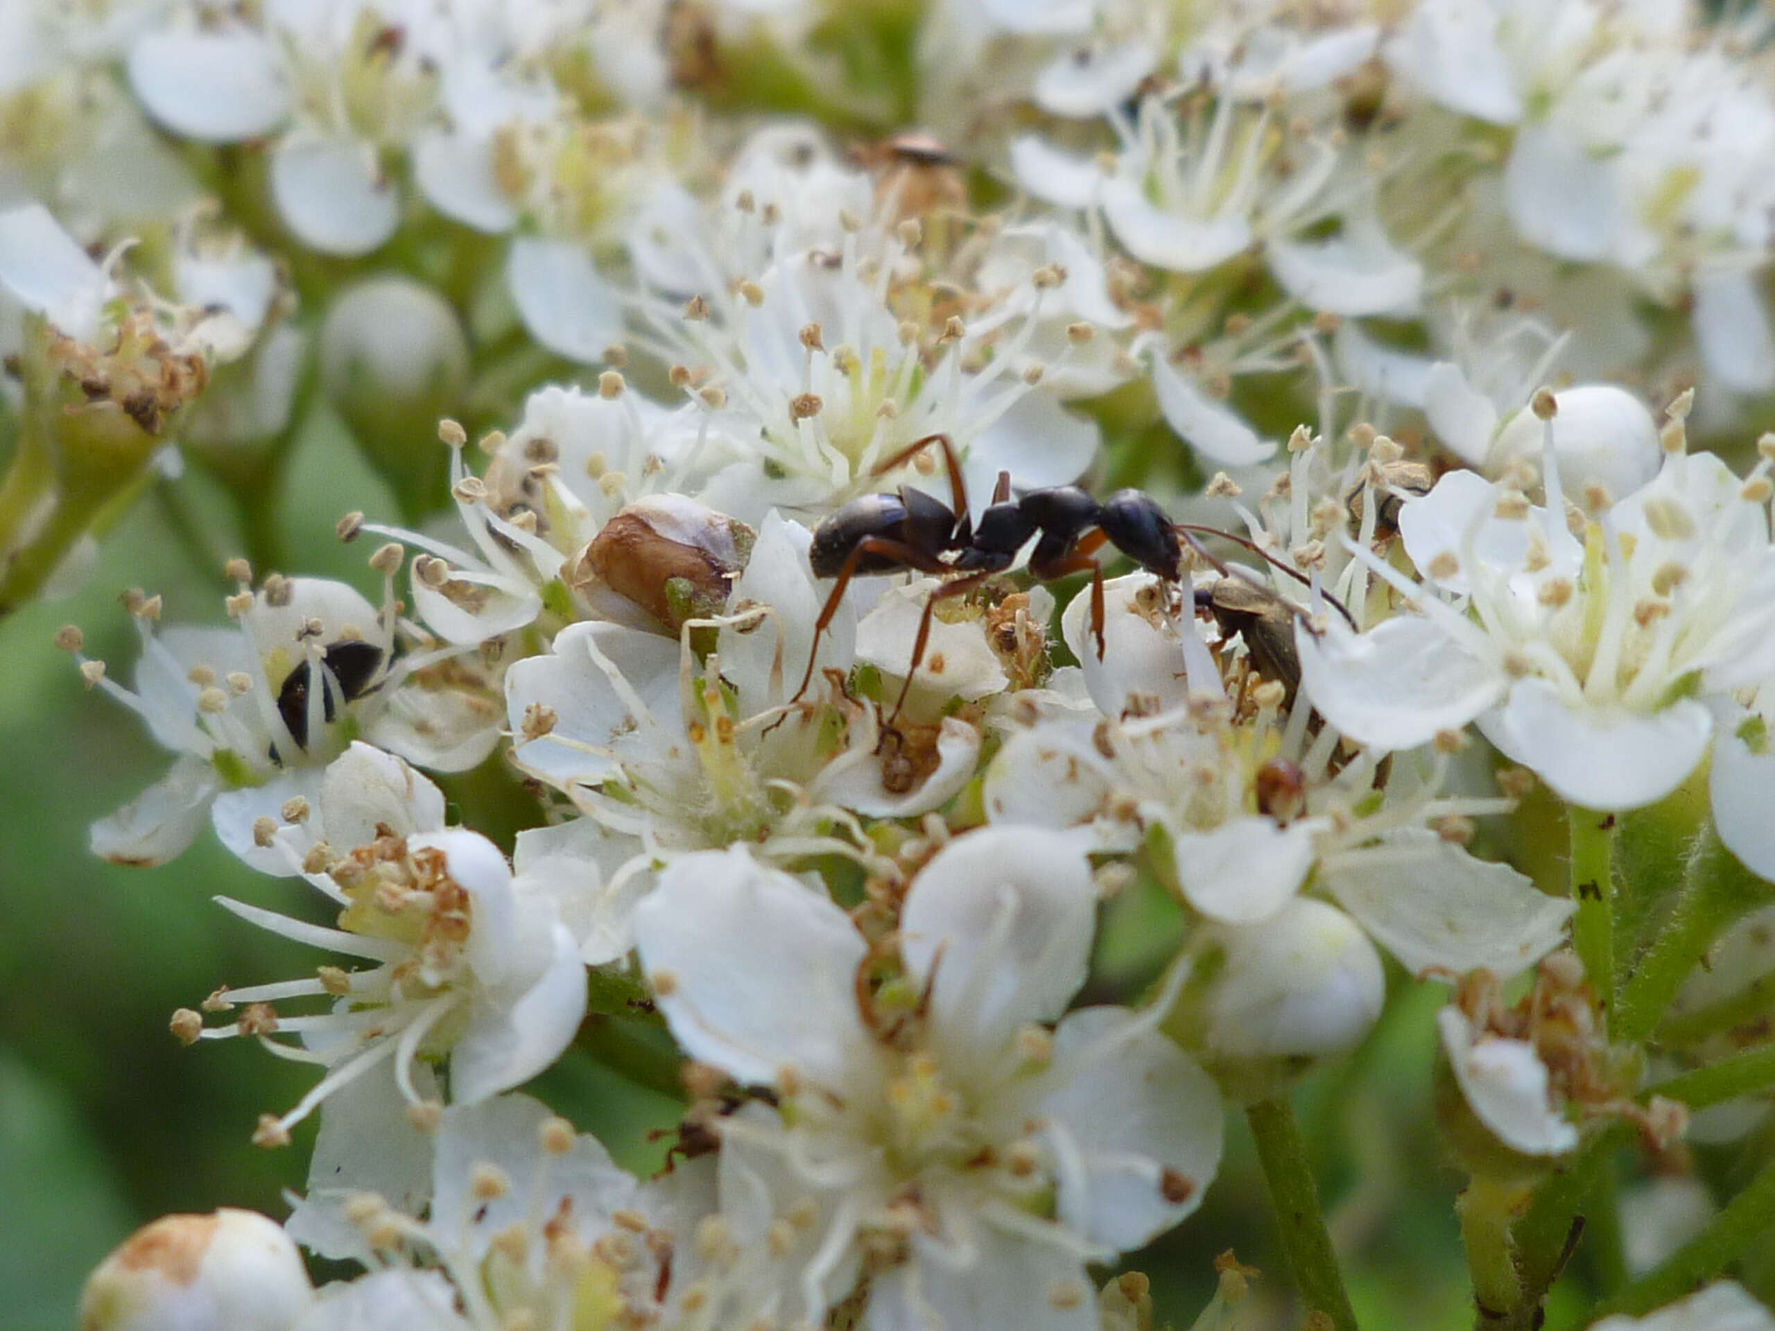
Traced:
POLYGON ((1615 1038, 1638 1044, 1649 1036, 1713 941, 1768 896, 1770 886, 1738 862, 1709 823, 1690 855, 1668 921, 1621 987, 1615 1038))

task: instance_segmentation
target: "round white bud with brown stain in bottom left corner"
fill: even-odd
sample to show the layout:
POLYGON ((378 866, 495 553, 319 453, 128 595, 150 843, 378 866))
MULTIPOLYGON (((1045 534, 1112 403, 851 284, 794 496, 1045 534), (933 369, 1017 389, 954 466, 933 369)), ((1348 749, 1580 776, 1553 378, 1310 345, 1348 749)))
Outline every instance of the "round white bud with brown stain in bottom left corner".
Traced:
POLYGON ((85 1331, 289 1331, 314 1303, 302 1255, 254 1210, 162 1216, 87 1278, 85 1331))

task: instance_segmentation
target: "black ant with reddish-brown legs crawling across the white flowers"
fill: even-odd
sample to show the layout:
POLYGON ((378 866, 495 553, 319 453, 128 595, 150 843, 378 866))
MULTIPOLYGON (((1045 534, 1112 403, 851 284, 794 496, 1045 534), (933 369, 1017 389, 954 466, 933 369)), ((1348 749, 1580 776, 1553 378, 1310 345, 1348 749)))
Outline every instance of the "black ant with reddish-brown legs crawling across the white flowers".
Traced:
MULTIPOLYGON (((967 490, 948 435, 927 435, 880 463, 879 472, 893 470, 928 445, 943 451, 950 477, 953 506, 921 490, 902 486, 898 493, 877 493, 852 499, 813 531, 808 552, 813 575, 836 579, 813 630, 808 651, 808 669, 792 703, 801 701, 813 680, 820 635, 832 623, 850 579, 870 573, 918 571, 948 579, 925 602, 912 641, 900 697, 888 719, 891 726, 905 706, 912 676, 925 660, 930 641, 930 623, 937 602, 964 596, 994 573, 1003 573, 1017 552, 1035 539, 1030 554, 1031 577, 1051 582, 1070 573, 1092 575, 1092 635, 1097 639, 1097 658, 1104 657, 1104 577, 1093 557, 1104 545, 1113 545, 1136 564, 1168 584, 1184 580, 1184 543, 1207 559, 1221 579, 1196 591, 1196 605, 1214 614, 1225 634, 1239 634, 1246 641, 1253 667, 1266 678, 1276 678, 1292 699, 1299 683, 1299 662, 1294 657, 1290 632, 1276 632, 1292 618, 1305 616, 1301 607, 1283 600, 1250 575, 1241 575, 1216 559, 1196 534, 1219 536, 1251 550, 1289 577, 1312 586, 1303 573, 1282 564, 1255 543, 1187 522, 1172 522, 1170 515, 1143 490, 1118 490, 1109 499, 1095 499, 1072 484, 1030 490, 1019 499, 1010 495, 1010 474, 999 472, 992 502, 978 524, 967 509, 967 490)), ((1337 600, 1326 596, 1349 619, 1337 600)), ((1351 621, 1354 625, 1354 621, 1351 621)))

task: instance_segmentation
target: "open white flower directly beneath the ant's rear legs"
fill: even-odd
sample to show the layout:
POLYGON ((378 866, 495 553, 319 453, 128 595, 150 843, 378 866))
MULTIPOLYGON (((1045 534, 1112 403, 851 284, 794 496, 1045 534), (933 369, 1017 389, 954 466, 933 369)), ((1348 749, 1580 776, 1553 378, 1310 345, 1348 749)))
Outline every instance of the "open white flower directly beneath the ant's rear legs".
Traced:
MULTIPOLYGON (((808 541, 806 529, 767 516, 728 614, 706 621, 719 639, 703 662, 689 634, 705 621, 689 621, 678 642, 579 623, 552 653, 506 673, 513 760, 588 823, 529 834, 520 870, 561 903, 589 964, 628 951, 628 916, 674 857, 746 843, 765 859, 873 864, 850 809, 916 816, 973 772, 980 729, 962 721, 907 724, 902 747, 888 749, 866 708, 852 706, 841 736, 822 731, 816 703, 783 710, 827 595, 808 541)), ((816 666, 848 673, 854 634, 845 602, 816 666)))

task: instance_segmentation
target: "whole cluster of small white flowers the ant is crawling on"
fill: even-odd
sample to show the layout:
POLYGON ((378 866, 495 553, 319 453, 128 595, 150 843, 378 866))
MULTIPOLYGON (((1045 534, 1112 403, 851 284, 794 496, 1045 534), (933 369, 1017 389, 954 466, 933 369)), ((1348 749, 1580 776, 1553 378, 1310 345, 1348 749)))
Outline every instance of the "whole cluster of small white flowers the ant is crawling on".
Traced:
POLYGON ((98 9, 0 11, 0 612, 151 460, 248 545, 318 421, 389 490, 371 595, 261 541, 229 626, 126 593, 131 687, 59 635, 172 754, 94 852, 213 827, 328 953, 172 1019, 314 1065, 288 1225, 162 1221, 89 1327, 1150 1327, 1104 1274, 1232 1109, 1344 1331, 1289 1093, 1429 983, 1487 1324, 1692 1113, 1757 1182, 1603 1326, 1770 1324, 1631 1320, 1775 1219, 1761 23, 98 9), (566 1056, 676 1097, 660 1173, 566 1056))

